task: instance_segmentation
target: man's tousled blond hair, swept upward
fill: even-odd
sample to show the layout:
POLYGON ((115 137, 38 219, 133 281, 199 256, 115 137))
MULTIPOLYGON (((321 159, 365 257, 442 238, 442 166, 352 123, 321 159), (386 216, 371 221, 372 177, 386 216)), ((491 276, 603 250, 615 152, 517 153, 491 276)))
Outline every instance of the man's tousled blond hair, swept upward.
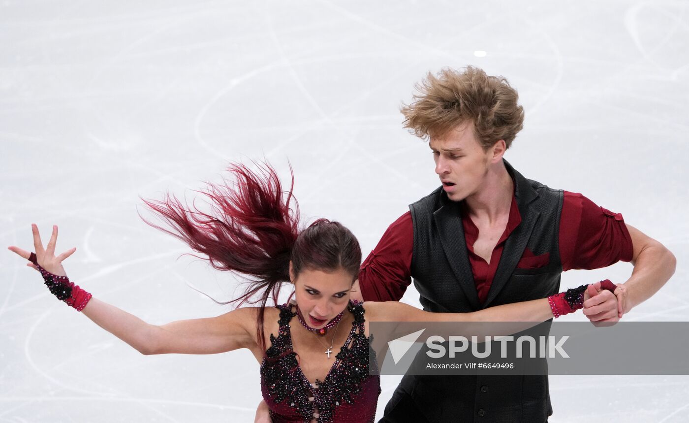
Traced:
POLYGON ((404 127, 420 138, 442 137, 458 125, 472 122, 484 150, 504 140, 510 147, 522 130, 524 110, 519 94, 502 76, 489 76, 473 66, 463 70, 445 68, 429 74, 413 103, 402 103, 404 127))

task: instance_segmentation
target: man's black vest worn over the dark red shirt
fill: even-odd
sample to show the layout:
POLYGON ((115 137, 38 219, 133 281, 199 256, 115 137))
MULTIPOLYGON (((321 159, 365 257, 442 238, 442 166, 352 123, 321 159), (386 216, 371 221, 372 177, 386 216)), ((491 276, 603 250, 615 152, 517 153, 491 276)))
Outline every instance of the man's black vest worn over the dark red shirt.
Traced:
MULTIPOLYGON (((559 291, 559 218, 564 194, 504 164, 515 183, 522 222, 505 241, 484 304, 478 300, 473 280, 460 204, 449 200, 440 187, 409 206, 414 228, 411 276, 424 310, 476 311, 546 298, 559 291), (548 265, 517 269, 525 247, 536 256, 550 253, 548 265)), ((531 423, 544 422, 553 413, 546 375, 406 375, 400 387, 431 422, 531 423)))

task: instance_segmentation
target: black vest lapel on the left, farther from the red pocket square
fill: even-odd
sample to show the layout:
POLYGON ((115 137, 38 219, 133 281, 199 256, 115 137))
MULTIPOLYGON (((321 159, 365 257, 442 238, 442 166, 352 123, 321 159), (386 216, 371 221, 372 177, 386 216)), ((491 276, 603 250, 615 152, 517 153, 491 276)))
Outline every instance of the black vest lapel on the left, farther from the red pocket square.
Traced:
POLYGON ((438 236, 445 251, 447 262, 449 262, 453 274, 455 274, 457 284, 464 291, 471 309, 480 309, 481 305, 476 293, 469 255, 466 254, 466 238, 464 238, 462 216, 460 216, 460 209, 457 203, 445 200, 444 205, 433 212, 433 219, 438 228, 438 236))

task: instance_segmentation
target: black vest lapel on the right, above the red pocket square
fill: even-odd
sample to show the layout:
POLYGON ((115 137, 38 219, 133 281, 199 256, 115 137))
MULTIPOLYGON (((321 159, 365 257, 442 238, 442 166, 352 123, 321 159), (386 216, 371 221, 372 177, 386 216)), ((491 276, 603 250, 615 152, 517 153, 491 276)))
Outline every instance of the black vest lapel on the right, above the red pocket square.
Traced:
MULTIPOLYGON (((526 178, 517 172, 507 161, 503 159, 507 172, 511 174, 515 182, 515 198, 517 200, 517 207, 519 207, 520 215, 522 216, 522 223, 517 226, 512 234, 505 240, 505 247, 500 256, 500 262, 495 271, 495 277, 491 284, 491 289, 488 292, 488 298, 482 307, 490 307, 491 302, 495 300, 497 294, 504 288, 507 281, 512 276, 512 272, 520 258, 524 254, 524 249, 531 238, 531 232, 536 225, 540 213, 530 207, 530 204, 538 196, 537 192, 528 183, 526 178)), ((474 289, 475 291, 475 289, 474 289)))

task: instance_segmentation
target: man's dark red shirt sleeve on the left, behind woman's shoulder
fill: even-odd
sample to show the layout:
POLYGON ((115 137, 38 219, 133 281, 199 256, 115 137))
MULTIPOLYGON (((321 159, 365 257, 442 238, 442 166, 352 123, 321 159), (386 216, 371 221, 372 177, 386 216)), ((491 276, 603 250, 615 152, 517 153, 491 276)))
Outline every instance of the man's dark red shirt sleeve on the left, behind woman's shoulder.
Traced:
POLYGON ((411 283, 414 229, 411 212, 390 225, 359 270, 364 301, 398 301, 411 283))

